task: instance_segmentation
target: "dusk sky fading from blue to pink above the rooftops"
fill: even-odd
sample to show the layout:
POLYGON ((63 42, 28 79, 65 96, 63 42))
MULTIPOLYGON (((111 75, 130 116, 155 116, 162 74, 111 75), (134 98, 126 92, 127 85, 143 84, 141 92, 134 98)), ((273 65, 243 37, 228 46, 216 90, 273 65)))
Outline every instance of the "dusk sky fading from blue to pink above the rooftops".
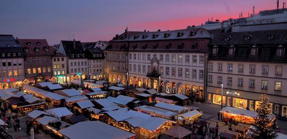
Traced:
MULTIPOLYGON (((183 29, 277 8, 277 0, 1 0, 0 34, 21 39, 109 41, 130 31, 183 29)), ((280 8, 284 0, 280 0, 280 8)), ((285 0, 287 2, 287 0, 285 0)))

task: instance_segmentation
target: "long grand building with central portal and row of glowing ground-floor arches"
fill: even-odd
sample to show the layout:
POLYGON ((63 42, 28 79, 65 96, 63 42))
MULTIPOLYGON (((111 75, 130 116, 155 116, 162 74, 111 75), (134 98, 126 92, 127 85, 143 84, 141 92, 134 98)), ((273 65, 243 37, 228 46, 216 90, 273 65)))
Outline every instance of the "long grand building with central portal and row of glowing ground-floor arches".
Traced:
POLYGON ((126 31, 111 40, 106 49, 108 80, 204 100, 210 38, 201 28, 132 34, 126 31), (128 72, 116 74, 125 70, 128 72))

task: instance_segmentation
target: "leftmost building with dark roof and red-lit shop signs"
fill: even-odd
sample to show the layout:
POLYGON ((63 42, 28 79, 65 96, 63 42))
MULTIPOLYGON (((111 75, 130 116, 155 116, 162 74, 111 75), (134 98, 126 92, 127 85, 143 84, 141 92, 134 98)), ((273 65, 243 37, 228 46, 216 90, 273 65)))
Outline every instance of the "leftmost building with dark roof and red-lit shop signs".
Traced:
POLYGON ((22 86, 24 55, 19 42, 12 35, 0 35, 0 89, 22 86))

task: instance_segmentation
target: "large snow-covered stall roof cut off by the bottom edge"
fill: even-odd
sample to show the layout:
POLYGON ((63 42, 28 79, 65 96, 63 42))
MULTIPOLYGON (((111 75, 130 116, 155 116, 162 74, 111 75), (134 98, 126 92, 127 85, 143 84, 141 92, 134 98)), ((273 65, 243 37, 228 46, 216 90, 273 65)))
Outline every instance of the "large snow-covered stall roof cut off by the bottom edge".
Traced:
POLYGON ((58 132, 69 139, 129 139, 136 136, 99 121, 79 122, 58 132))

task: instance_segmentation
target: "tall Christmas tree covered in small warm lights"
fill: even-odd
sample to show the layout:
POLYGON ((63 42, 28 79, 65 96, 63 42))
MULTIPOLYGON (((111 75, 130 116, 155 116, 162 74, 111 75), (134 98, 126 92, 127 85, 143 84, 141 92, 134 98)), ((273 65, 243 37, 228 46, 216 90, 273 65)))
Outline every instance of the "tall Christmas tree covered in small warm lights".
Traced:
POLYGON ((262 94, 261 103, 256 109, 257 115, 254 116, 254 122, 251 128, 245 134, 246 139, 275 139, 277 136, 276 117, 270 118, 272 113, 271 103, 265 94, 262 94))

